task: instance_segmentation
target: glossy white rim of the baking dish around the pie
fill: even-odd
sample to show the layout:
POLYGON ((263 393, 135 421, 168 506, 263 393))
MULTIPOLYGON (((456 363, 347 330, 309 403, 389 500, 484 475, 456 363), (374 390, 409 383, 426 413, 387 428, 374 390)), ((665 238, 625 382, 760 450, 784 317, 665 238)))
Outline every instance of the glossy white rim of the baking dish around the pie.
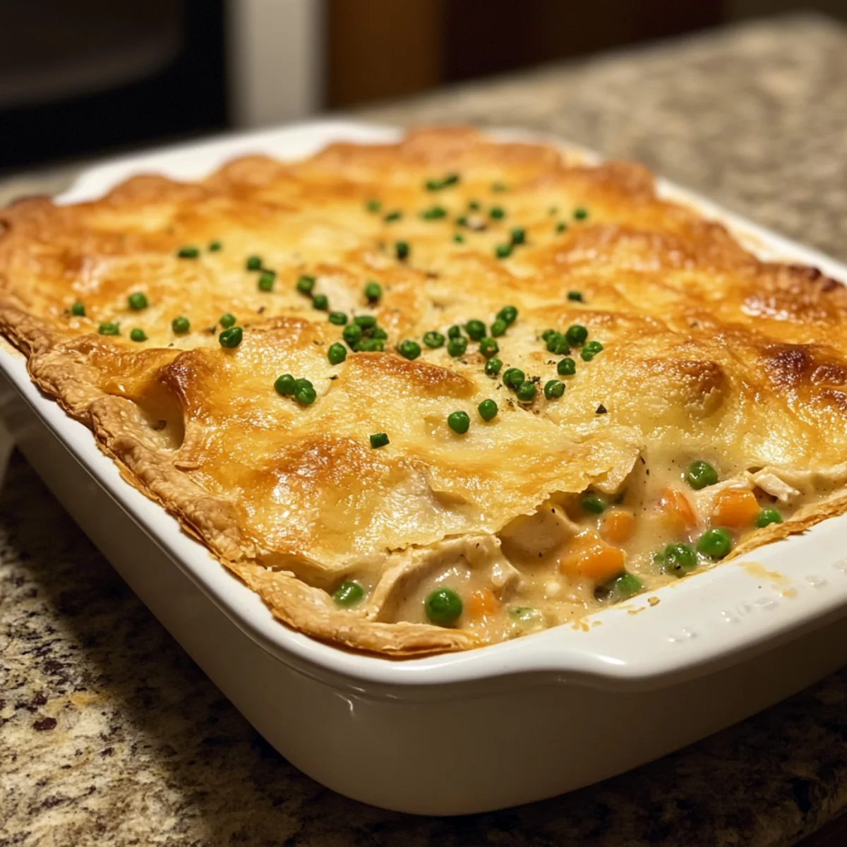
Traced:
MULTIPOLYGON (((217 136, 115 158, 82 171, 58 197, 66 204, 99 197, 132 174, 156 171, 194 180, 247 153, 295 159, 331 141, 394 141, 400 128, 346 119, 307 121, 270 130, 217 136)), ((490 130, 495 140, 553 144, 589 162, 594 152, 529 130, 490 130)), ((769 259, 820 268, 847 281, 847 265, 730 213, 693 191, 656 178, 660 197, 684 203, 728 226, 748 249, 769 259)), ((552 674, 603 689, 660 687, 740 662, 793 634, 822 625, 847 608, 847 556, 839 540, 847 515, 828 518, 803 535, 772 542, 722 563, 694 579, 646 592, 627 603, 544 632, 457 653, 402 660, 370 656, 329 645, 277 621, 257 594, 180 529, 162 507, 121 479, 117 465, 97 448, 91 430, 42 396, 24 358, 0 347, 0 370, 69 449, 80 465, 180 570, 263 650, 316 678, 364 691, 380 686, 402 696, 410 686, 441 688, 472 681, 552 674), (840 536, 839 536, 840 534, 840 536), (724 600, 731 597, 732 600, 724 600), (656 602, 651 606, 650 602, 656 602)))

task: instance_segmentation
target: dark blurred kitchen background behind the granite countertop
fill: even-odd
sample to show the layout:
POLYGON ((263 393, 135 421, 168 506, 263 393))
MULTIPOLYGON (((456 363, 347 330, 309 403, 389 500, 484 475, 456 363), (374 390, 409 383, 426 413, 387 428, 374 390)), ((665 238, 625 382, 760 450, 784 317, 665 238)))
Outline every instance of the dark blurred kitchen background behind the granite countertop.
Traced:
POLYGON ((0 173, 797 10, 847 20, 847 0, 0 0, 0 173))

